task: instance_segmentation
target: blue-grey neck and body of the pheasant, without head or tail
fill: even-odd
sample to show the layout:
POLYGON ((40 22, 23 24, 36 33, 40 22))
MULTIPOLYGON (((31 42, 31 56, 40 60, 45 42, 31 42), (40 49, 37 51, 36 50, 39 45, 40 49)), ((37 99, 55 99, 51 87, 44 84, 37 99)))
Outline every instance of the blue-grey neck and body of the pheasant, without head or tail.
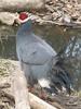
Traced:
POLYGON ((58 61, 57 53, 48 43, 32 33, 30 22, 27 21, 17 31, 17 57, 29 83, 33 85, 38 82, 41 87, 51 89, 54 86, 54 74, 51 73, 58 61))

